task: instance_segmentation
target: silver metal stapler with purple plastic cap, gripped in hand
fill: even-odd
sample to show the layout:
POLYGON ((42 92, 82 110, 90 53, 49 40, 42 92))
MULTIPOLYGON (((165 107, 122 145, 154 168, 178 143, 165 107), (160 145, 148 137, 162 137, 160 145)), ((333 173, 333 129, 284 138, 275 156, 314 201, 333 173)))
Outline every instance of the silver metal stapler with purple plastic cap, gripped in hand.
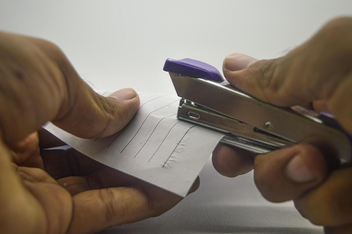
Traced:
POLYGON ((282 108, 231 86, 213 66, 194 59, 166 59, 176 93, 177 118, 226 133, 220 142, 256 154, 294 145, 319 145, 340 164, 351 163, 352 137, 328 112, 282 108))

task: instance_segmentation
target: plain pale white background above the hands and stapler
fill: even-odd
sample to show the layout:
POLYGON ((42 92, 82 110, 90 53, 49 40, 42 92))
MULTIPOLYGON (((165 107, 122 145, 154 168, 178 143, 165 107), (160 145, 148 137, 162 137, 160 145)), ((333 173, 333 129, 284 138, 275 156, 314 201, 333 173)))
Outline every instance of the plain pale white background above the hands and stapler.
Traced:
POLYGON ((59 45, 101 89, 174 91, 166 58, 193 58, 221 71, 232 52, 273 58, 299 45, 352 1, 0 0, 0 30, 59 45))

